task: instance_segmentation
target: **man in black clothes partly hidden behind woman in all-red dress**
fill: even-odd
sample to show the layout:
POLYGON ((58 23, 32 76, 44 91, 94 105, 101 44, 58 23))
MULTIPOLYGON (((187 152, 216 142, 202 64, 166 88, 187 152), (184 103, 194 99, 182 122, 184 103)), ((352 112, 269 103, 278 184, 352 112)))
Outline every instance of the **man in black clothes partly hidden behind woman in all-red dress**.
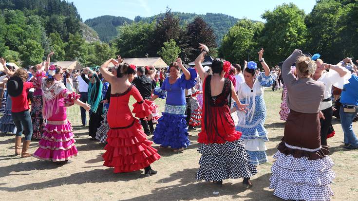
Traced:
MULTIPOLYGON (((151 91, 153 89, 152 86, 152 78, 154 78, 154 75, 156 74, 156 71, 152 72, 150 77, 146 75, 146 69, 145 67, 138 67, 137 68, 137 76, 133 79, 133 85, 138 89, 140 95, 143 97, 144 100, 150 100, 151 99, 151 91)), ((144 129, 144 133, 146 133, 148 136, 153 134, 154 127, 152 120, 146 121, 144 118, 140 118, 141 125, 144 129)))

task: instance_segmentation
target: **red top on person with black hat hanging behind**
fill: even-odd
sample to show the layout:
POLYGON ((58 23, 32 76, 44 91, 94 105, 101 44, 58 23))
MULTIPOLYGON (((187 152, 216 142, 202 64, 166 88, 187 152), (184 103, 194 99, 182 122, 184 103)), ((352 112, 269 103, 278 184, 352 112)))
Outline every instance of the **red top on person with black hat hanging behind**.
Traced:
POLYGON ((31 88, 34 88, 32 82, 24 82, 22 93, 16 97, 10 96, 12 101, 12 105, 11 105, 12 112, 20 112, 30 109, 29 102, 27 101, 27 94, 29 92, 29 89, 31 88))

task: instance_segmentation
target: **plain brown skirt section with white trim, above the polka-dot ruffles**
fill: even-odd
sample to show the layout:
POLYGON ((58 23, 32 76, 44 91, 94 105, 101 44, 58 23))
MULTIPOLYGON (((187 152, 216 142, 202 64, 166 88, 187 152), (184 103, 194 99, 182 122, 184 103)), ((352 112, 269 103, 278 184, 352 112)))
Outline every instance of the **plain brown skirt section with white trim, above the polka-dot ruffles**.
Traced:
POLYGON ((328 154, 328 146, 320 145, 320 118, 318 113, 307 114, 290 110, 283 141, 278 149, 285 155, 295 158, 307 157, 316 160, 328 154))

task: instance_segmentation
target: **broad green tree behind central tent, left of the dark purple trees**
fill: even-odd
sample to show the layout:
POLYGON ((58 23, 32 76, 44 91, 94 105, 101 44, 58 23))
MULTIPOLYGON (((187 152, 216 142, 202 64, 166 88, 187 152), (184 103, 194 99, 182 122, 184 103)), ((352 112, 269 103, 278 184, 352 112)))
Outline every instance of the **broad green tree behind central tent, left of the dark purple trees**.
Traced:
MULTIPOLYGON (((123 58, 144 57, 157 55, 159 48, 152 48, 155 22, 126 24, 119 30, 119 36, 114 40, 113 46, 117 49, 117 54, 123 58)), ((161 44, 160 46, 162 46, 161 44)))

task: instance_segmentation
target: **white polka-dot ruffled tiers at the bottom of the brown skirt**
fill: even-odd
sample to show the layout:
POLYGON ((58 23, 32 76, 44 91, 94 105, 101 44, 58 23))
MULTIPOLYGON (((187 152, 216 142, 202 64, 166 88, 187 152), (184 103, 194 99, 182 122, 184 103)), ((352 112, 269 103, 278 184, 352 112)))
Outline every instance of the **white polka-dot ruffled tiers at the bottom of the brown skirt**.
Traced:
POLYGON ((296 201, 329 201, 333 196, 329 184, 335 173, 329 156, 308 160, 307 157, 294 158, 277 151, 273 158, 276 161, 271 167, 269 188, 275 189, 275 196, 296 201))

